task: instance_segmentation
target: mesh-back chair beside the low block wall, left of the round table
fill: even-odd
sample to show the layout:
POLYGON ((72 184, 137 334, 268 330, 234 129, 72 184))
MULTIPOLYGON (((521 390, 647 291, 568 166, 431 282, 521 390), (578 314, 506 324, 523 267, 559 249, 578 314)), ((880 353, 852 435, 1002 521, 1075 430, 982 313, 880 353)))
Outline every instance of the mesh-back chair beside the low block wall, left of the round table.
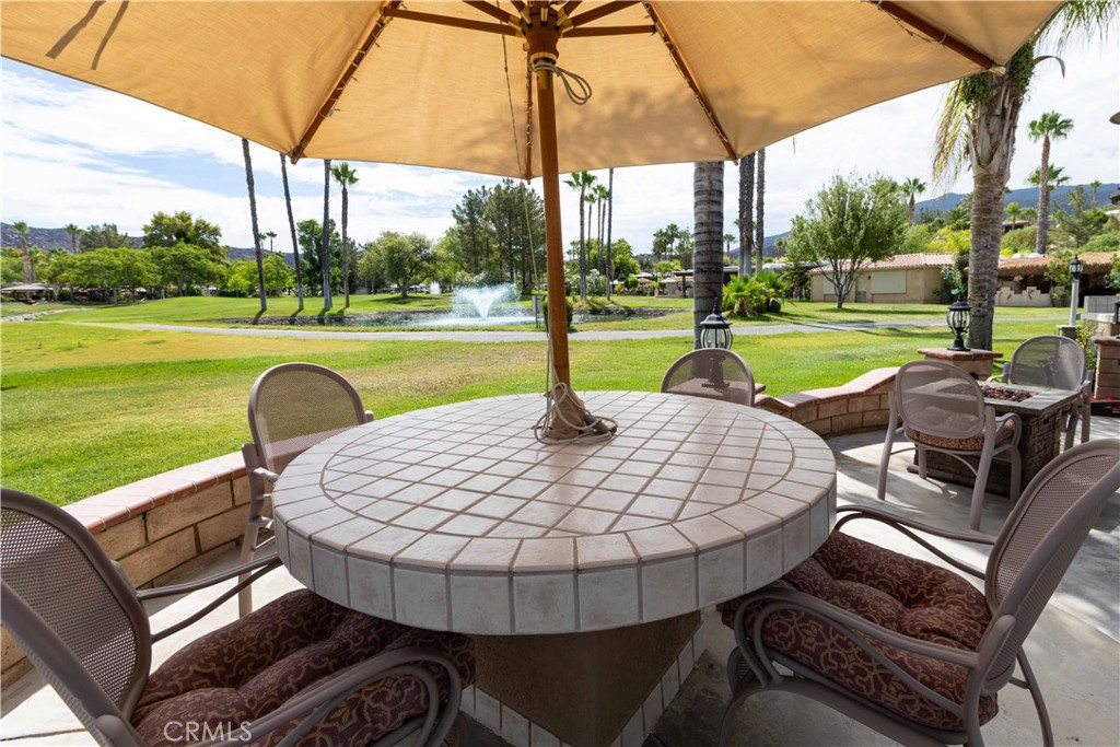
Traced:
MULTIPOLYGON (((282 363, 262 373, 249 394, 249 430, 253 440, 241 445, 249 478, 249 519, 241 543, 241 561, 274 545, 264 512, 271 486, 288 464, 309 447, 373 420, 354 386, 330 368, 311 363, 282 363)), ((274 552, 274 549, 272 549, 274 552)), ((252 609, 250 587, 241 592, 241 615, 252 609)))

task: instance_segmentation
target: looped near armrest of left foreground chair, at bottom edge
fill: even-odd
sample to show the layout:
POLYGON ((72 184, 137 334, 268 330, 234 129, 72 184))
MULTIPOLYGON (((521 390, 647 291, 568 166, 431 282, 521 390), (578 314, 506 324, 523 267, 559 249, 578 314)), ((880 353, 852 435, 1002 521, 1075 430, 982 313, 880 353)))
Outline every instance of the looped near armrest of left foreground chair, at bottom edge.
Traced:
POLYGON ((234 730, 228 739, 207 741, 203 747, 241 747, 248 743, 259 741, 265 735, 288 723, 305 713, 305 718, 284 739, 280 746, 292 745, 328 716, 335 707, 351 693, 377 680, 392 676, 414 676, 423 683, 428 691, 428 715, 416 744, 440 745, 447 738, 459 712, 463 695, 463 684, 459 672, 446 657, 417 647, 395 648, 381 653, 364 662, 353 664, 307 690, 297 693, 287 702, 251 723, 234 730), (420 664, 432 663, 441 666, 448 678, 447 707, 444 717, 437 723, 439 713, 439 685, 431 672, 420 664))

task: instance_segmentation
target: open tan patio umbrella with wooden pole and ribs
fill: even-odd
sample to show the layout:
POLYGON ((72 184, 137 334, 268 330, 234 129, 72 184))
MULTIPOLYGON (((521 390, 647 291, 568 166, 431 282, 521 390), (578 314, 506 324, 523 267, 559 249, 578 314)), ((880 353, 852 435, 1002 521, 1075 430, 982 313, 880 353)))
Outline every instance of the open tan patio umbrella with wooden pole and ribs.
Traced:
POLYGON ((737 159, 998 68, 1058 4, 7 0, 0 50, 293 159, 542 177, 566 394, 560 172, 737 159))

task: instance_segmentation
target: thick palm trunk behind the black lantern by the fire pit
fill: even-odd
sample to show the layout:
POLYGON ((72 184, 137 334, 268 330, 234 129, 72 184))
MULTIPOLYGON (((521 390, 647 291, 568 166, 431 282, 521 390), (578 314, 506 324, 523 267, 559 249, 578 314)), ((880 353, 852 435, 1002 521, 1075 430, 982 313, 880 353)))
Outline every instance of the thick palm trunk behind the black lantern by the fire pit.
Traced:
POLYGON ((991 349, 999 244, 1004 237, 1004 188, 1015 151, 1023 90, 1010 75, 993 76, 988 99, 976 105, 969 128, 973 192, 969 244, 969 347, 991 349))

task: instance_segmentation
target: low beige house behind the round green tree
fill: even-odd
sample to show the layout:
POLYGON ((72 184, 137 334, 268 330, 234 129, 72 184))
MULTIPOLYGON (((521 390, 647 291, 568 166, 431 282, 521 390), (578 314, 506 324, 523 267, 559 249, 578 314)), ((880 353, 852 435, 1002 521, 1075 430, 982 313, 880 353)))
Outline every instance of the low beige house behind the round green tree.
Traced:
MULTIPOLYGON (((859 270, 847 301, 857 304, 937 304, 943 299, 941 270, 952 254, 899 254, 859 270)), ((837 292, 823 268, 809 271, 810 300, 836 301, 837 292)))

